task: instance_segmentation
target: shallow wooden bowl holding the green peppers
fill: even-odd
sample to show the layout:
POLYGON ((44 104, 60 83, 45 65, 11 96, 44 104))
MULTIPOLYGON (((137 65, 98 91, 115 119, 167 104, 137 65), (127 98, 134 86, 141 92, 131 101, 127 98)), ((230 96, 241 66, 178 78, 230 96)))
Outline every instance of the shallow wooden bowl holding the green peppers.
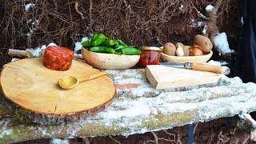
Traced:
POLYGON ((138 63, 140 55, 118 55, 94 53, 85 48, 81 50, 82 58, 98 69, 128 69, 138 63))

